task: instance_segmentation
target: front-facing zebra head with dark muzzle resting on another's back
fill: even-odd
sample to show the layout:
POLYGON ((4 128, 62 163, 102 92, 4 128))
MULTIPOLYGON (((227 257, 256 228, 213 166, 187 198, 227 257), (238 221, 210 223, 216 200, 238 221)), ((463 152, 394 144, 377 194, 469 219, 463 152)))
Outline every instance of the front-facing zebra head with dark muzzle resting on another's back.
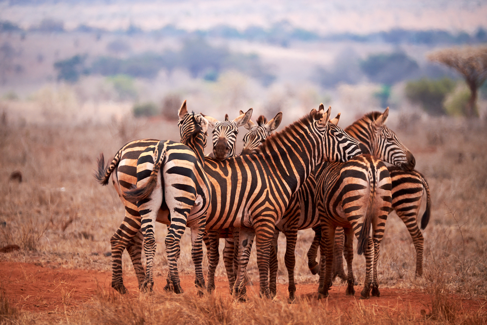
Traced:
POLYGON ((219 121, 211 116, 206 116, 209 126, 213 128, 213 155, 217 160, 223 160, 227 157, 235 156, 235 142, 237 141, 237 134, 239 134, 239 127, 247 124, 252 116, 252 109, 246 113, 241 114, 234 120, 229 120, 228 115, 225 114, 225 120, 219 121))

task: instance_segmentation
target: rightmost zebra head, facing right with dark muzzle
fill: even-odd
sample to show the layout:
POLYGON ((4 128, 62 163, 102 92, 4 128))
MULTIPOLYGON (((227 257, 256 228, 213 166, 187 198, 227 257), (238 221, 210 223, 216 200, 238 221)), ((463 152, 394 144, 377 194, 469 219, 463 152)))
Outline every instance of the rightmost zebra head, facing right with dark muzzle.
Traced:
POLYGON ((378 159, 403 170, 412 171, 416 160, 397 135, 386 126, 388 115, 389 107, 382 114, 368 113, 347 127, 345 131, 362 142, 378 159))

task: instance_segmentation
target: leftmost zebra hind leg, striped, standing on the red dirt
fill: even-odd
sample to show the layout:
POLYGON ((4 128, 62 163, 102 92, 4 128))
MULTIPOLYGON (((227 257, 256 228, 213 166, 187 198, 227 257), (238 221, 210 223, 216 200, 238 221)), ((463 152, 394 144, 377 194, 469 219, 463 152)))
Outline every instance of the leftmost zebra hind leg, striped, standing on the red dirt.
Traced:
MULTIPOLYGON (((134 214, 139 214, 135 210, 132 211, 134 214)), ((131 215, 126 211, 122 224, 110 238, 110 246, 112 247, 112 288, 122 294, 127 292, 122 277, 122 253, 132 238, 139 232, 140 222, 140 215, 131 215)))

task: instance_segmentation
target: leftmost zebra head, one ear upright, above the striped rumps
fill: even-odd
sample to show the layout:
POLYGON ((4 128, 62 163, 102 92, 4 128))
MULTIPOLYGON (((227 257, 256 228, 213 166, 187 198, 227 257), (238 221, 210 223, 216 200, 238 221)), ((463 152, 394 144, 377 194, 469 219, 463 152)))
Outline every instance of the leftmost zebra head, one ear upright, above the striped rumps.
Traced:
POLYGON ((186 107, 186 100, 183 102, 183 105, 181 105, 178 116, 181 143, 187 145, 195 152, 201 151, 201 153, 203 153, 204 148, 206 147, 208 120, 203 115, 194 112, 189 113, 186 107))

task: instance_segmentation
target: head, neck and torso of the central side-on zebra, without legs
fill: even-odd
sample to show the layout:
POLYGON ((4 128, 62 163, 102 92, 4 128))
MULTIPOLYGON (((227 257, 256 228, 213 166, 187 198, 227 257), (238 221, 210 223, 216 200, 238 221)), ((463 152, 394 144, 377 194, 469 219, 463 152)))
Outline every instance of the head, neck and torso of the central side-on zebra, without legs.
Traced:
POLYGON ((212 183, 214 202, 211 211, 208 210, 206 229, 240 227, 242 221, 244 224, 247 221, 237 218, 248 212, 256 213, 254 209, 267 200, 276 205, 266 210, 278 214, 274 221, 277 222, 290 196, 317 163, 344 162, 360 154, 356 139, 328 123, 330 109, 325 112, 321 104, 319 111, 312 110, 284 130, 268 136, 253 154, 223 161, 207 157, 205 172, 212 183))

